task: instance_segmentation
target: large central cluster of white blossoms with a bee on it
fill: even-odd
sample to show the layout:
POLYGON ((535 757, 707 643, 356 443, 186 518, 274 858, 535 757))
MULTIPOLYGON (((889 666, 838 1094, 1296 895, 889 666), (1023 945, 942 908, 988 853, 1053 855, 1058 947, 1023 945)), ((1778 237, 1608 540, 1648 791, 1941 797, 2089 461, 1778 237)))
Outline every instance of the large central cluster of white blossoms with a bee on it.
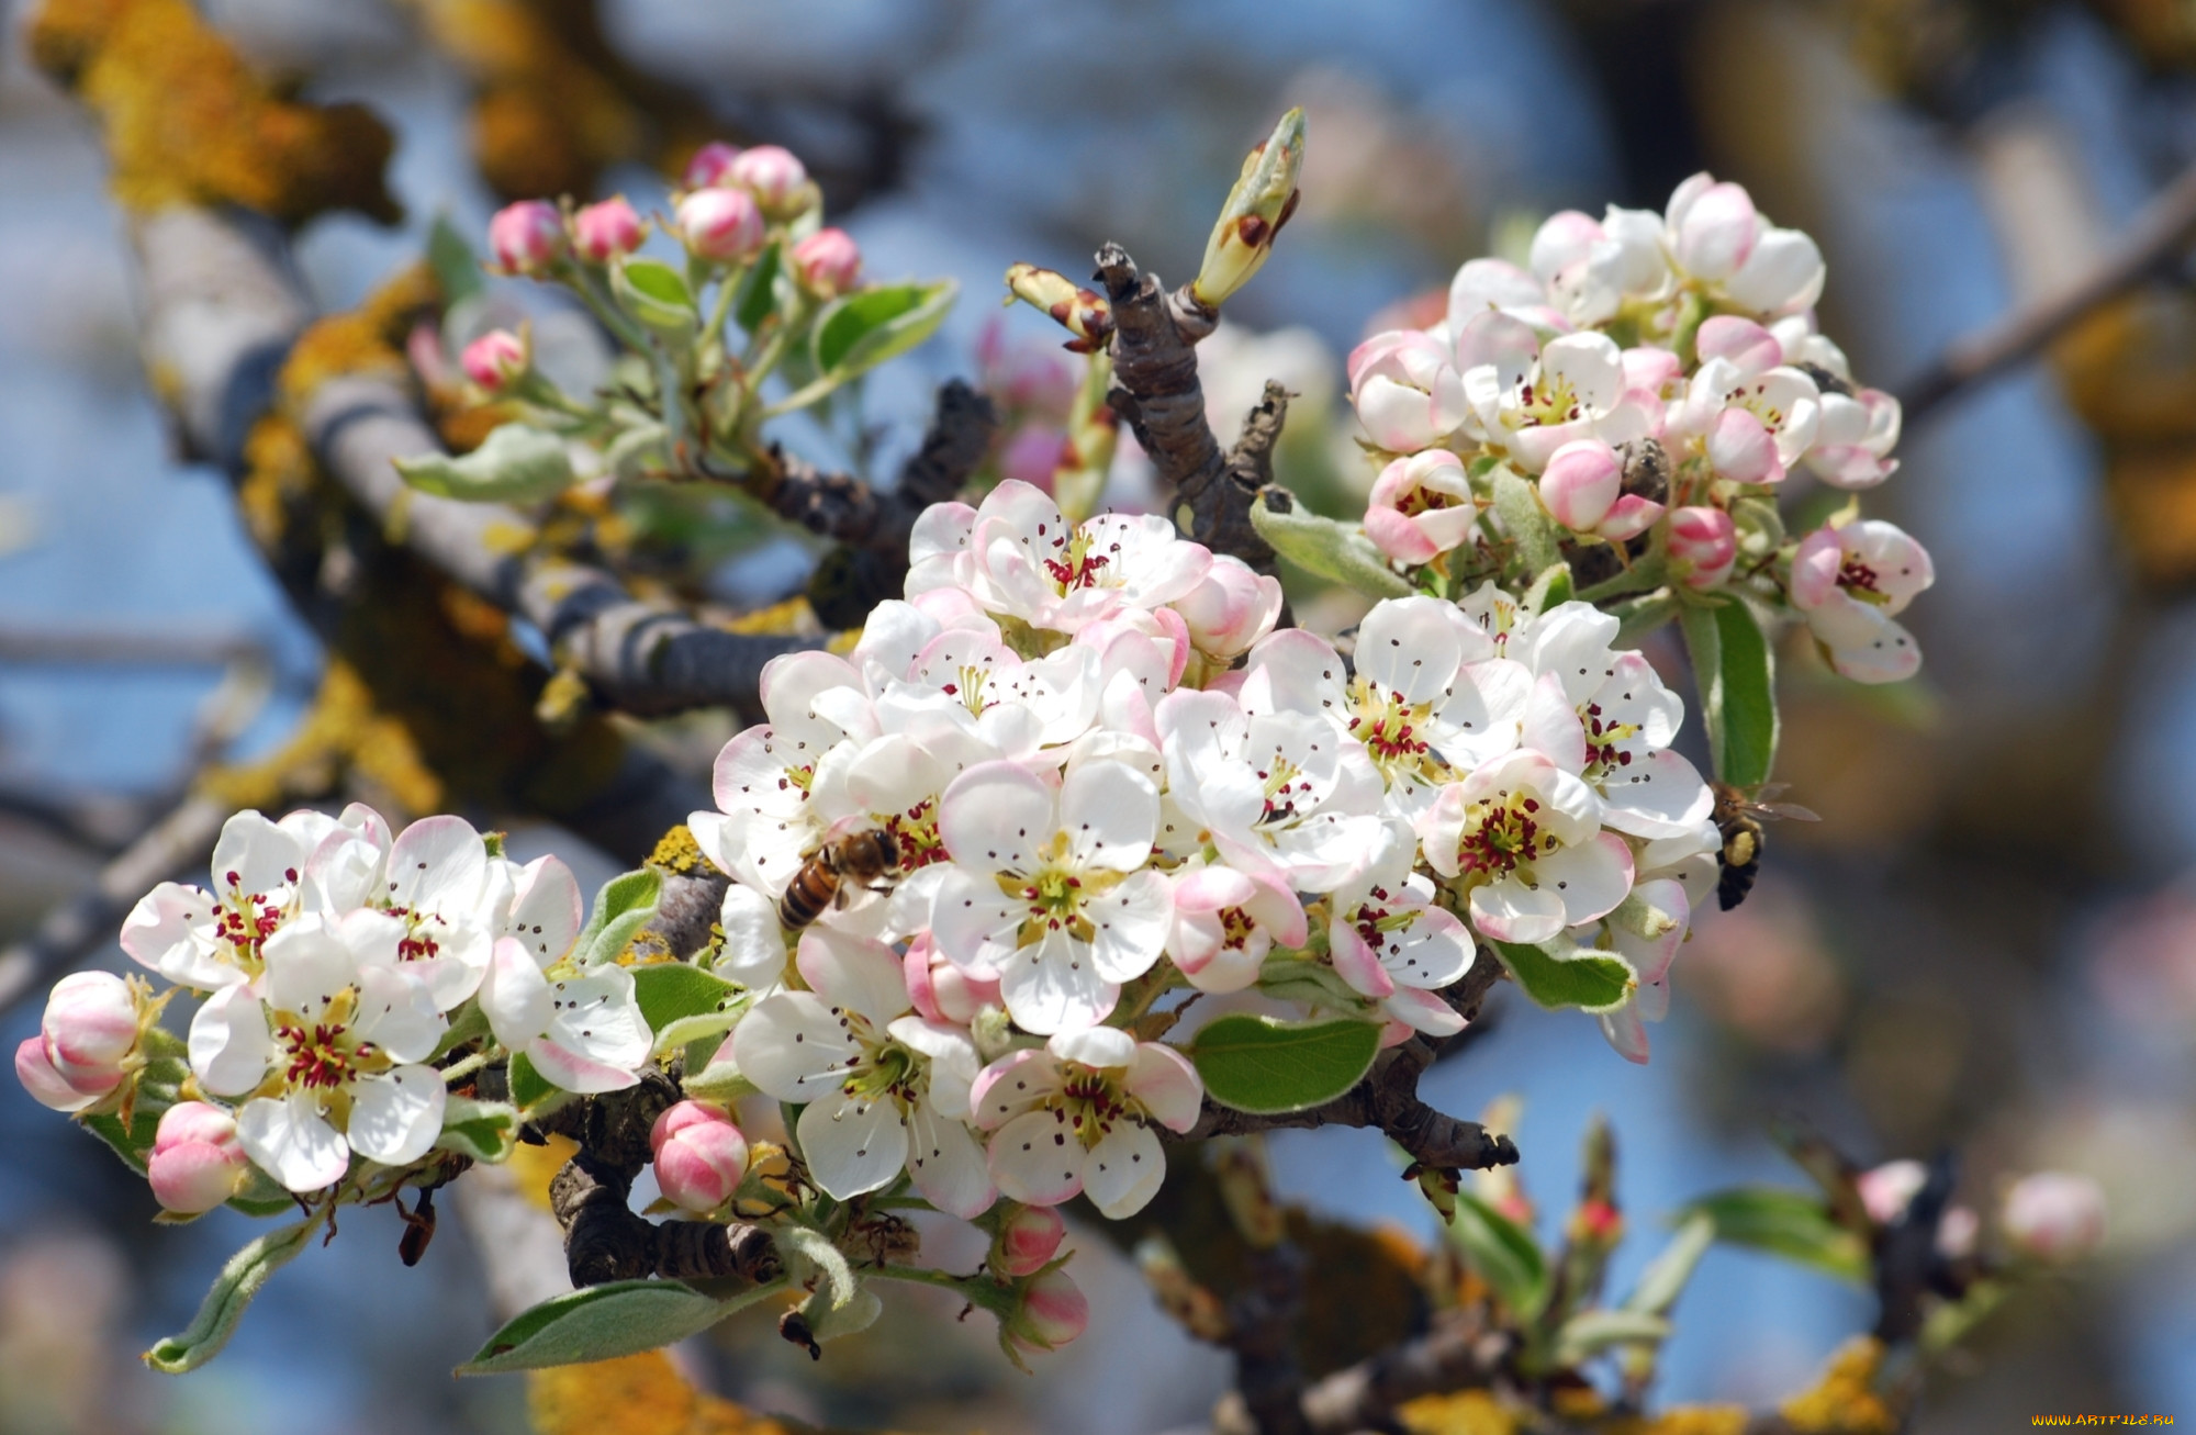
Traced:
POLYGON ((826 1191, 905 1170, 960 1216, 1140 1209, 1155 1128, 1201 1104, 1140 1040, 1179 990, 1302 1009, 1309 976, 1313 1014, 1394 1042, 1463 1027, 1441 992, 1478 941, 1594 950, 1634 974, 1603 1020, 1645 1058, 1719 838, 1616 619, 1403 597, 1344 658, 1164 518, 1069 524, 1015 481, 925 513, 914 560, 848 656, 766 669, 769 722, 690 818, 733 875, 716 970, 762 994, 725 1055, 802 1104, 826 1191), (889 878, 845 878, 788 963, 788 889, 878 834, 889 878))

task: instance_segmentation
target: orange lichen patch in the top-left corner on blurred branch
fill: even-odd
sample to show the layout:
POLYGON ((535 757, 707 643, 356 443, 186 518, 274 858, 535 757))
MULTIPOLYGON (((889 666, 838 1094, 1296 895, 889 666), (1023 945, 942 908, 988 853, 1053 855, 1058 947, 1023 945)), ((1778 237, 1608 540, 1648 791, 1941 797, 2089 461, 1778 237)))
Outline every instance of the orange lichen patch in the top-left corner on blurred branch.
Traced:
POLYGON ((393 140, 365 105, 279 99, 187 0, 48 0, 31 55, 99 114, 114 197, 132 208, 404 213, 382 180, 393 140))

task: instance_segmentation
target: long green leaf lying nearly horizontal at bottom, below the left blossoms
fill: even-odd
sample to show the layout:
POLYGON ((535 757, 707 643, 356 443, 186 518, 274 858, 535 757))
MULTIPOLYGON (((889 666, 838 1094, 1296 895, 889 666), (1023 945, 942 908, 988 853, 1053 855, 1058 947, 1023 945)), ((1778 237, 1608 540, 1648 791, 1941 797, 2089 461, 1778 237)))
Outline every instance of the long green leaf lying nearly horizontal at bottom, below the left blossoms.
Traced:
POLYGON ((512 1317, 457 1374, 496 1376, 637 1356, 701 1334, 780 1290, 782 1279, 729 1299, 685 1281, 610 1281, 571 1290, 512 1317))

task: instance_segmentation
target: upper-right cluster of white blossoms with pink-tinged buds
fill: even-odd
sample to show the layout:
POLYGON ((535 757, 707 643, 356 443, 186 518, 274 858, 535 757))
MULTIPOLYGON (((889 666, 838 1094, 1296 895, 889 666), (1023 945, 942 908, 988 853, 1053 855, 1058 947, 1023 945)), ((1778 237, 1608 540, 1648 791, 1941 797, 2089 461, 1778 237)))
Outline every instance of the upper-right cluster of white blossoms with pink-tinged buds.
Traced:
POLYGON ((1660 215, 1550 217, 1528 268, 1474 259, 1441 323, 1351 353, 1357 417, 1392 454, 1366 533, 1399 564, 1476 573, 1517 538, 1506 470, 1572 553, 1605 549, 1601 573, 1744 592, 1801 617, 1847 678, 1913 676, 1895 619, 1932 581, 1922 544, 1858 500, 1796 544, 1777 513, 1803 478, 1860 491, 1897 470, 1900 404, 1816 331, 1820 294, 1814 239, 1706 173, 1660 215))

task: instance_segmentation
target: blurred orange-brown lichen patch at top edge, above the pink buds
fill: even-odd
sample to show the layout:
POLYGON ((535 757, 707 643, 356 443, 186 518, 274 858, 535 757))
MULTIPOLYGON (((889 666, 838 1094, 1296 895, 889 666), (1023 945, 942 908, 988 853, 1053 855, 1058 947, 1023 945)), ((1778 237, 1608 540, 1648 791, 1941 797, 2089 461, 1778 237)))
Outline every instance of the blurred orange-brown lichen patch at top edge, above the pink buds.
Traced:
POLYGON ((472 79, 472 154, 505 200, 589 195, 619 160, 672 160, 712 129, 694 99, 635 75, 593 0, 408 0, 472 79))

